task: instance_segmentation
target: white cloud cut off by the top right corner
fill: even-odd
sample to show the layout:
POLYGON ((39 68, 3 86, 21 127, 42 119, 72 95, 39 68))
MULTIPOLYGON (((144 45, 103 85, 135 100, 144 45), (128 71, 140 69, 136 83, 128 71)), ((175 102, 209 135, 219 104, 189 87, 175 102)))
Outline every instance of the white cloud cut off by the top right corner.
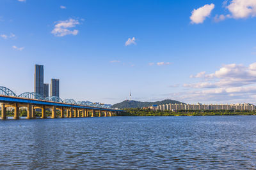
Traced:
POLYGON ((255 0, 232 0, 226 8, 233 18, 256 17, 255 0))

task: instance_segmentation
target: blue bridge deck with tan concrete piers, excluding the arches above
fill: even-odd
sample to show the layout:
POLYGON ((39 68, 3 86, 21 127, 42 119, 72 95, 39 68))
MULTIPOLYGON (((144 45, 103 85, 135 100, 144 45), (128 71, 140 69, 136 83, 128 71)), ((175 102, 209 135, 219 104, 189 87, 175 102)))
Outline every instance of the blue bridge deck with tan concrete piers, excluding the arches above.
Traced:
POLYGON ((108 108, 97 108, 92 106, 83 106, 79 104, 68 104, 54 101, 43 101, 39 99, 27 99, 23 97, 3 96, 0 95, 1 103, 1 119, 6 119, 6 108, 14 108, 14 119, 19 119, 19 108, 26 108, 26 118, 36 118, 35 109, 42 111, 42 117, 46 118, 45 109, 51 110, 51 118, 56 117, 56 110, 60 110, 60 118, 72 117, 95 117, 95 113, 99 113, 99 117, 112 117, 113 114, 119 113, 122 110, 113 110, 108 108), (66 113, 66 116, 64 116, 66 113), (80 114, 81 113, 81 114, 80 114), (103 115, 104 114, 104 115, 103 115))

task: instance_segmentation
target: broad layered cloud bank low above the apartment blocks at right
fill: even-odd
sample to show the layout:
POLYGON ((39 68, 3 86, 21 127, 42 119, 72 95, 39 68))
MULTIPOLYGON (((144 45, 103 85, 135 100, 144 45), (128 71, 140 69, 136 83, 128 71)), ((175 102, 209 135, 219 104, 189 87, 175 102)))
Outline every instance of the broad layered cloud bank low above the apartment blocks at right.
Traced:
POLYGON ((246 101, 255 100, 256 62, 249 66, 227 64, 211 74, 202 71, 191 78, 203 78, 198 83, 186 83, 183 87, 201 89, 181 93, 183 99, 209 101, 246 101), (254 98, 253 98, 254 96, 254 98))

